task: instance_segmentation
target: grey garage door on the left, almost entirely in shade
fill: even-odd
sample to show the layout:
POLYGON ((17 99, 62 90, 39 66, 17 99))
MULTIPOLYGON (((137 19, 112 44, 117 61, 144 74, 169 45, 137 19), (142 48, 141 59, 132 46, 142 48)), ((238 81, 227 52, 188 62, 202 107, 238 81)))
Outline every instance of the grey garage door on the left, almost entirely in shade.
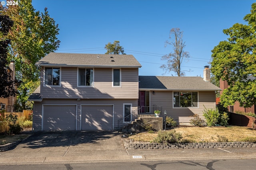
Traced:
POLYGON ((44 105, 43 130, 76 130, 76 105, 44 105))

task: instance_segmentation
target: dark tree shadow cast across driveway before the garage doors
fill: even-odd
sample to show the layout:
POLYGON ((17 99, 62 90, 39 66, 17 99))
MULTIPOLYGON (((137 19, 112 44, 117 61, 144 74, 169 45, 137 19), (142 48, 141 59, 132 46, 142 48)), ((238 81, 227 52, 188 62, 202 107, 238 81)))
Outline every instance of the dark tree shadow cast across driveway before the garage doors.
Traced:
POLYGON ((42 131, 22 141, 23 148, 68 147, 76 145, 120 145, 120 134, 116 131, 42 131), (118 140, 119 139, 119 140, 118 140))

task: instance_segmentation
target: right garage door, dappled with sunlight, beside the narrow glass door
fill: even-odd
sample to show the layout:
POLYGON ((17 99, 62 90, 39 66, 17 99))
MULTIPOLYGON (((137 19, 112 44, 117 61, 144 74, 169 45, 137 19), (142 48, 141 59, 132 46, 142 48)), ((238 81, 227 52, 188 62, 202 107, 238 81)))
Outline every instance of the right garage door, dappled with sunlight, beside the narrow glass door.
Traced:
POLYGON ((82 130, 112 130, 113 105, 84 105, 81 120, 82 130))

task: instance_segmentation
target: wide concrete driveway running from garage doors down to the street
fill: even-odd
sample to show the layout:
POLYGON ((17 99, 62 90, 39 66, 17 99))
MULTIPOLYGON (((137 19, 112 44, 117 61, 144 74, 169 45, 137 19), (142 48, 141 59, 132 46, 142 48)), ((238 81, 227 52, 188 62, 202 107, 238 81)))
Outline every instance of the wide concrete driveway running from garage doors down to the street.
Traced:
POLYGON ((119 160, 128 156, 116 131, 44 131, 0 153, 0 163, 119 160))

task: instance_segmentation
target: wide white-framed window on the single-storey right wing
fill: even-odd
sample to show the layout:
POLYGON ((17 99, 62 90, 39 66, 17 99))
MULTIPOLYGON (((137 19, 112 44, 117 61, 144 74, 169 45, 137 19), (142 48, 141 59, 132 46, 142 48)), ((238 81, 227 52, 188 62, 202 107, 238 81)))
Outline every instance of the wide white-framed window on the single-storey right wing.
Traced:
POLYGON ((174 107, 198 107, 198 92, 173 92, 174 107))

